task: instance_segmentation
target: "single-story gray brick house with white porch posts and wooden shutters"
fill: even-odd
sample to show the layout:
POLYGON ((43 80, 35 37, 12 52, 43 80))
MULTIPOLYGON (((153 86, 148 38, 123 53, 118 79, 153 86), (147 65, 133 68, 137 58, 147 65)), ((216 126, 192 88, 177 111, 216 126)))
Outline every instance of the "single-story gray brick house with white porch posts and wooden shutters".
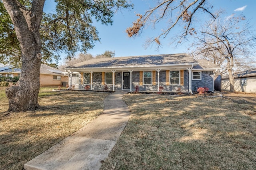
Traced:
POLYGON ((185 53, 91 59, 66 68, 69 85, 84 89, 134 91, 214 90, 214 71, 220 67, 207 60, 195 60, 185 53))

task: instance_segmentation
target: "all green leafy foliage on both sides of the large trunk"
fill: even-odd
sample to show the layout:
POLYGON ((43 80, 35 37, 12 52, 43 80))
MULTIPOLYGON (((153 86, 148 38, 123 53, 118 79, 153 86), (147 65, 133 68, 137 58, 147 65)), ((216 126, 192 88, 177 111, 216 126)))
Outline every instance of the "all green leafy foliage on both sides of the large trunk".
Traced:
MULTIPOLYGON (((30 9, 31 0, 19 0, 30 9)), ((76 51, 86 52, 100 41, 93 24, 94 18, 102 24, 112 24, 112 16, 120 8, 132 7, 126 0, 55 0, 56 13, 43 14, 40 27, 43 60, 58 61, 59 53, 72 58, 76 51)), ((46 1, 47 5, 47 1, 46 1)), ((14 26, 0 1, 0 63, 21 65, 20 44, 14 26)))

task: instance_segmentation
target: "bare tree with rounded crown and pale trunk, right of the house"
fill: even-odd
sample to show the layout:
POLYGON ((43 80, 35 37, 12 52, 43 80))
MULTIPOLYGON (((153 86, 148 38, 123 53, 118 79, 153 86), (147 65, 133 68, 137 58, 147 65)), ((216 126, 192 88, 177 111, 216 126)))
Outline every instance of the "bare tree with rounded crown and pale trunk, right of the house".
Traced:
POLYGON ((193 55, 204 55, 218 64, 226 64, 230 91, 234 92, 234 66, 241 67, 244 61, 255 54, 256 34, 244 16, 232 15, 226 19, 207 22, 197 34, 192 46, 197 46, 193 55))

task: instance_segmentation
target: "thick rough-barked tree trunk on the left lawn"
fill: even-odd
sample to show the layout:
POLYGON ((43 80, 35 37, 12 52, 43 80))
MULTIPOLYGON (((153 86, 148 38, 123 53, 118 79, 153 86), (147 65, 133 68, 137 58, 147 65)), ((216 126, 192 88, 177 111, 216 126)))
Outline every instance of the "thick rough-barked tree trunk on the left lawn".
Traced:
POLYGON ((22 53, 20 79, 16 86, 6 89, 9 110, 14 112, 35 110, 39 107, 40 88, 40 23, 45 0, 33 0, 32 8, 20 8, 15 0, 3 0, 4 7, 14 24, 22 53))

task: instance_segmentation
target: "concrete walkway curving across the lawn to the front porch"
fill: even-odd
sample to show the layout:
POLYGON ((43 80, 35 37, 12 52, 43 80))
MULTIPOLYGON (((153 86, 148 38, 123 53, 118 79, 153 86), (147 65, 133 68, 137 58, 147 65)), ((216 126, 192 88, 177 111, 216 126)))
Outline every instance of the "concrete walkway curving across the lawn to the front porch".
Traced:
POLYGON ((102 115, 24 164, 25 170, 98 170, 129 120, 124 93, 108 95, 102 115))

